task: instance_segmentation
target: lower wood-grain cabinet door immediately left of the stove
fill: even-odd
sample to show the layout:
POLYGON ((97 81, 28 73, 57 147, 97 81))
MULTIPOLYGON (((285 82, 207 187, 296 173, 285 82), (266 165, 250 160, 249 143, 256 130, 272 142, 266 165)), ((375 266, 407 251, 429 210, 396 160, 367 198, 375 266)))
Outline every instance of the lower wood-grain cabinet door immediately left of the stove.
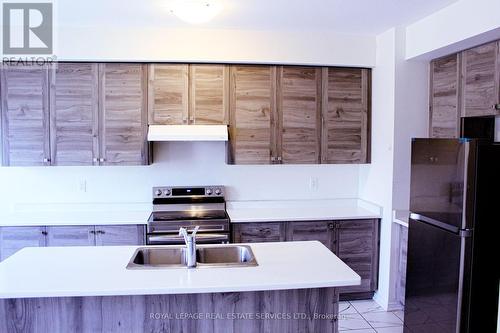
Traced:
POLYGON ((144 232, 144 225, 95 226, 96 245, 144 245, 144 232))

